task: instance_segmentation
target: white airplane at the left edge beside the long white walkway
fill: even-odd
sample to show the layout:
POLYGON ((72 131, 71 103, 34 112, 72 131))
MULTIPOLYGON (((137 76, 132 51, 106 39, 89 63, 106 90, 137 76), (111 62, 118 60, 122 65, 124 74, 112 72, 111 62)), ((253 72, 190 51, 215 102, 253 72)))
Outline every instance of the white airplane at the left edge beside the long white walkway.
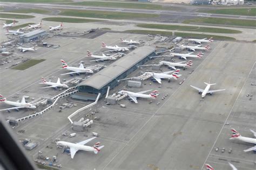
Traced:
POLYGON ((5 103, 5 104, 11 105, 11 106, 16 106, 16 107, 5 108, 5 109, 2 109, 2 110, 0 110, 0 111, 12 110, 12 109, 18 110, 19 108, 36 108, 35 105, 30 104, 30 103, 26 103, 24 96, 22 97, 22 101, 21 101, 21 102, 19 102, 19 101, 16 101, 16 102, 15 102, 15 101, 6 100, 6 98, 3 97, 3 96, 0 94, 0 102, 3 102, 3 103, 5 103))

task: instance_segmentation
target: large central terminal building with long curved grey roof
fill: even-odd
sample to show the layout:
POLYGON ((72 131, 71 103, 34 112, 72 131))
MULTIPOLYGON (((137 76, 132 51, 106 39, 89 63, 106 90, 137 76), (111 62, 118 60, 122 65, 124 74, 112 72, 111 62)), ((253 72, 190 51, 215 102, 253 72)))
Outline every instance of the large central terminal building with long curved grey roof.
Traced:
POLYGON ((151 46, 143 46, 116 60, 103 70, 93 74, 89 79, 78 84, 78 93, 72 98, 82 100, 95 100, 98 93, 102 96, 107 92, 107 87, 113 89, 118 85, 118 80, 123 79, 136 70, 138 65, 143 65, 150 57, 156 56, 156 51, 151 46))

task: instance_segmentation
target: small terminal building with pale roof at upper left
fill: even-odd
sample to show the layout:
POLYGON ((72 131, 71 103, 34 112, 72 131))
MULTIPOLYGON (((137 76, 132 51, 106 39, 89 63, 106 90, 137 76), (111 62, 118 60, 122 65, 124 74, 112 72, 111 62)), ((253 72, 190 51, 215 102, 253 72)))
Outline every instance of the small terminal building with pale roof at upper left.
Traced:
POLYGON ((45 30, 34 30, 31 32, 23 33, 23 35, 19 36, 19 42, 28 43, 37 39, 40 39, 47 35, 45 30))

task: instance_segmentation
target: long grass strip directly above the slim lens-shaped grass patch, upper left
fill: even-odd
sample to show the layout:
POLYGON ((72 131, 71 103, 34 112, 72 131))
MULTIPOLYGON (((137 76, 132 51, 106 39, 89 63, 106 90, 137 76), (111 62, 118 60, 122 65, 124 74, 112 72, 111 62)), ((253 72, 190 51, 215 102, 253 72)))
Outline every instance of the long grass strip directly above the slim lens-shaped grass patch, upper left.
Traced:
POLYGON ((131 18, 152 18, 159 17, 157 14, 147 13, 129 13, 129 12, 109 12, 109 11, 91 11, 91 10, 72 10, 61 9, 59 15, 75 16, 75 17, 90 17, 90 18, 105 18, 105 19, 131 19, 131 18))

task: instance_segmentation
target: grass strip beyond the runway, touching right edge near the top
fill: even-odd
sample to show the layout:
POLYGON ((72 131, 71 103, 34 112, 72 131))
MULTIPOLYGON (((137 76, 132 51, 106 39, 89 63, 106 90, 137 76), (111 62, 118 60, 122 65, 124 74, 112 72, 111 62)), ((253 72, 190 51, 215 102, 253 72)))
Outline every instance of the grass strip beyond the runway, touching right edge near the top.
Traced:
POLYGON ((218 13, 226 15, 244 15, 244 16, 256 16, 256 8, 231 8, 231 9, 218 9, 218 10, 199 10, 198 12, 204 13, 218 13))

